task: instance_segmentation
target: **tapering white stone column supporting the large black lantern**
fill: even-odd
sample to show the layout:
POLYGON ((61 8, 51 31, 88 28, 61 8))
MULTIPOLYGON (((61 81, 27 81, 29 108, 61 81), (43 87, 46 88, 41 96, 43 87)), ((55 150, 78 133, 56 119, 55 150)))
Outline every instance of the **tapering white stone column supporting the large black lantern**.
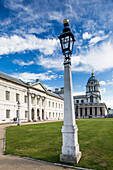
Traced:
POLYGON ((60 161, 78 163, 81 152, 79 151, 72 89, 71 63, 68 61, 64 62, 64 126, 62 127, 63 146, 60 161))

